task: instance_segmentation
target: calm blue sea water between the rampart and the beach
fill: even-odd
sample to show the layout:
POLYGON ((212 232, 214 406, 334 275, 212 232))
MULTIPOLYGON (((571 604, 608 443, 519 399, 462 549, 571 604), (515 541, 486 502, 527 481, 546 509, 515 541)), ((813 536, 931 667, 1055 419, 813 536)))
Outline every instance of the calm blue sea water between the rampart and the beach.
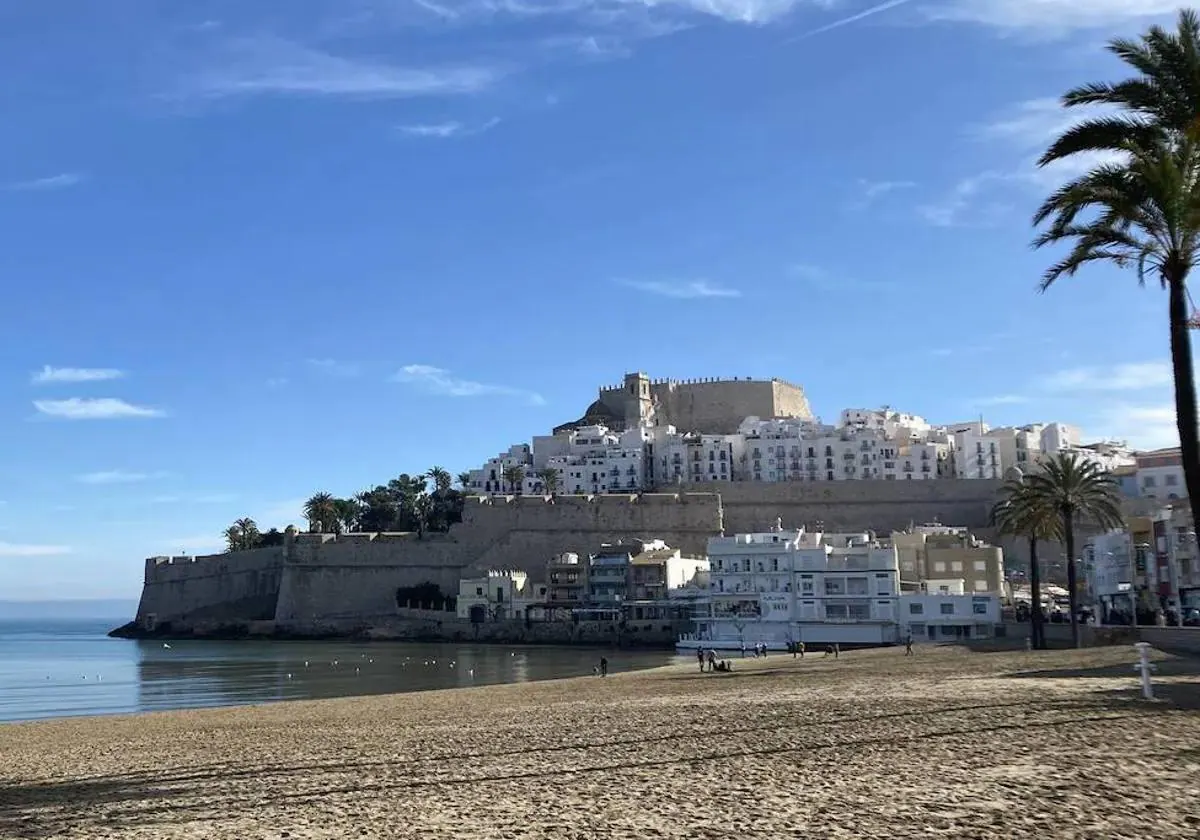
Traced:
MULTIPOLYGON (((0 620, 0 721, 521 683, 592 673, 598 650, 397 642, 142 642, 120 622, 0 620)), ((605 653, 613 672, 688 661, 605 653)))

